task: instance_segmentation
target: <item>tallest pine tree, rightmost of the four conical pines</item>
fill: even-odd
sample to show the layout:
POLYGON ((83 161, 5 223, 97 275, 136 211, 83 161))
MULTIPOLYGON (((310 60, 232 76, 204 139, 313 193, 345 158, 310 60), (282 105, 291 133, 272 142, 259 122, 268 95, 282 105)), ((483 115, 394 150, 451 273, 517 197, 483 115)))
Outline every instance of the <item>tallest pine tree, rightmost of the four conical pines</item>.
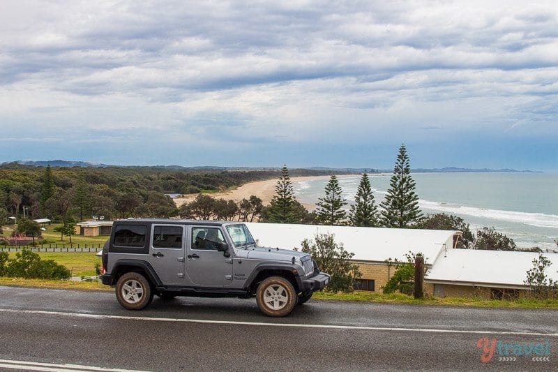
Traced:
POLYGON ((411 177, 411 166, 405 144, 399 148, 389 190, 381 206, 382 225, 386 228, 407 228, 422 217, 418 208, 418 195, 414 192, 415 182, 411 177))

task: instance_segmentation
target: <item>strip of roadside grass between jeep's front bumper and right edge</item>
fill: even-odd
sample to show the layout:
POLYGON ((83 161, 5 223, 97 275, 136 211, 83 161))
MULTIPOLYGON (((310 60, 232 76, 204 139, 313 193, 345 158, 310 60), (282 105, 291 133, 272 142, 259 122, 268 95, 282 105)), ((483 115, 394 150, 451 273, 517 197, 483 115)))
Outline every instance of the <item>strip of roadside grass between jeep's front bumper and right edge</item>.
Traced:
POLYGON ((475 307, 498 307, 498 308, 556 308, 558 299, 482 299, 478 297, 425 297, 414 299, 412 296, 393 293, 384 295, 375 292, 353 292, 353 293, 331 293, 315 292, 315 299, 333 299, 338 301, 375 302, 386 304, 414 304, 414 305, 441 305, 441 306, 475 306, 475 307))

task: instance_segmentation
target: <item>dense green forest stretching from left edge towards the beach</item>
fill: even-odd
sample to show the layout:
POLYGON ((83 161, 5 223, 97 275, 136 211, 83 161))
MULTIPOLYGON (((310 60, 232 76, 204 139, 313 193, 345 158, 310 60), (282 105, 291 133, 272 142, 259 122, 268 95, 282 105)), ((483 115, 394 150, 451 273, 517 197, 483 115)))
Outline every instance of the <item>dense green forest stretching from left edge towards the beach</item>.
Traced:
MULTIPOLYGON (((0 225, 8 216, 52 221, 170 217, 178 209, 165 193, 224 191, 249 181, 277 177, 277 170, 107 167, 51 168, 8 163, 0 166, 0 225)), ((296 175, 327 174, 294 170, 296 175)))

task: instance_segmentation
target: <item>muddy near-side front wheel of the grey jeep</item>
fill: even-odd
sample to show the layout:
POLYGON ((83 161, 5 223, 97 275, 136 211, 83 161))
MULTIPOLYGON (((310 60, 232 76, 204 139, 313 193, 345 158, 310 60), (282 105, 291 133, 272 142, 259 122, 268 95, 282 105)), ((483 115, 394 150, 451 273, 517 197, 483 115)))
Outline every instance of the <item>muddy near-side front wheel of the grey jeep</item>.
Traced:
POLYGON ((259 284, 256 302, 259 310, 269 316, 288 315, 297 301, 296 291, 286 278, 271 276, 259 284))

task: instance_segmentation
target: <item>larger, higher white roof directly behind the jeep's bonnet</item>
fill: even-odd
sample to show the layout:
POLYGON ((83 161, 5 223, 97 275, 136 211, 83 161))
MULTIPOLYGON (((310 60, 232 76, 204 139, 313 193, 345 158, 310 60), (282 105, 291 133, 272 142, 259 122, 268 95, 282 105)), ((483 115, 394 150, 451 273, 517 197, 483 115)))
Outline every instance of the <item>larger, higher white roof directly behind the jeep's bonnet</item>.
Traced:
POLYGON ((391 258, 406 261, 405 255, 423 253, 425 263, 432 264, 439 255, 453 248, 458 231, 390 228, 356 228, 353 226, 290 225, 285 223, 246 223, 260 246, 301 248, 304 239, 316 234, 333 234, 352 260, 384 262, 391 258))

